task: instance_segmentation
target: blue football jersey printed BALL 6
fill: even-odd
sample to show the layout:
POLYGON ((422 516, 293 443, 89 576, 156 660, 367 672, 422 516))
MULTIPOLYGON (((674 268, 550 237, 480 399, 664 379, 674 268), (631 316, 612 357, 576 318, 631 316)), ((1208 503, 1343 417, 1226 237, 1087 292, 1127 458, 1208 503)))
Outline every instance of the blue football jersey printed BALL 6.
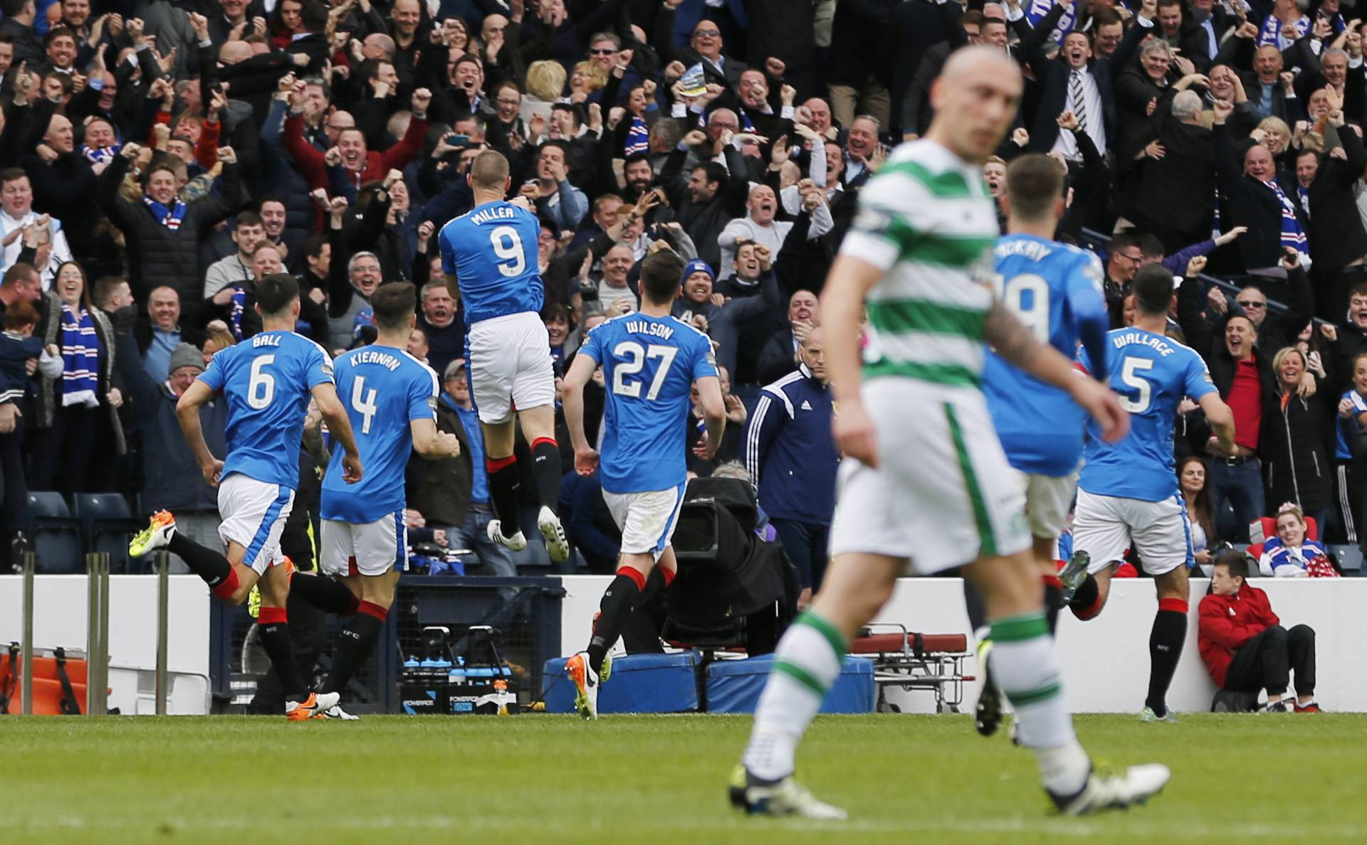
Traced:
POLYGON ((261 332, 215 355, 200 381, 228 401, 223 478, 241 472, 297 489, 309 392, 332 384, 323 347, 294 332, 261 332))

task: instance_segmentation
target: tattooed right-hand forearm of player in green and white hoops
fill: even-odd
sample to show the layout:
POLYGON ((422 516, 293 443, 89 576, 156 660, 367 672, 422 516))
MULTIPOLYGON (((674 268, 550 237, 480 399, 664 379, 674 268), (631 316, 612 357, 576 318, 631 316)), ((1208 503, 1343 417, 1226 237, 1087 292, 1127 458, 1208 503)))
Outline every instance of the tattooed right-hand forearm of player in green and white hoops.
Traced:
MULTIPOLYGON (((1102 382, 1079 378, 1070 360, 1054 347, 1040 343, 1001 302, 987 314, 987 343, 998 355, 1035 378, 1068 390, 1084 411, 1102 426, 1102 438, 1117 442, 1129 431, 1129 414, 1115 393, 1102 382)), ((827 340, 830 345, 830 340, 827 340)), ((845 408, 841 407, 843 415, 845 408)))

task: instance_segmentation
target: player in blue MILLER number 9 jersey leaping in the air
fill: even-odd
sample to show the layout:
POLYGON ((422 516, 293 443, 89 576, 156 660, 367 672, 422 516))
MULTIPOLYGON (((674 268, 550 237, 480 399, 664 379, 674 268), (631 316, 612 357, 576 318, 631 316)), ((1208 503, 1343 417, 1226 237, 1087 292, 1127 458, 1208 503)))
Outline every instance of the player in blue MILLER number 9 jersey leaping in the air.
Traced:
POLYGON ((442 227, 442 269, 451 296, 463 300, 470 396, 484 431, 484 466, 493 516, 489 539, 514 552, 526 547, 517 523, 518 468, 513 416, 532 444, 536 524, 551 560, 570 556, 555 508, 560 497, 560 449, 555 445, 555 370, 541 322, 544 288, 537 270, 541 231, 525 205, 503 202, 511 179, 500 153, 484 150, 465 177, 474 209, 442 227))

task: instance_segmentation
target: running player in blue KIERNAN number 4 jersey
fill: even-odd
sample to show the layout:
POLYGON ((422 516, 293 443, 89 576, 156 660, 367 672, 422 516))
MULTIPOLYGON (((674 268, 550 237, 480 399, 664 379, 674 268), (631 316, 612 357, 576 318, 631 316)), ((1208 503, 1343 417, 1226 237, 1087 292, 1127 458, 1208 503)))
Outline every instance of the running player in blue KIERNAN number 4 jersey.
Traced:
MULTIPOLYGON (((390 283, 370 296, 376 341, 338 356, 338 393, 365 464, 360 483, 343 479, 340 453, 323 478, 320 569, 331 577, 299 576, 294 588, 324 610, 351 616, 332 655, 325 693, 342 693, 370 655, 394 605, 394 587, 407 560, 403 472, 410 450, 428 460, 461 453, 455 434, 436 430, 437 379, 405 351, 417 324, 409 283, 390 283)), ((340 704, 329 718, 355 719, 340 704)))

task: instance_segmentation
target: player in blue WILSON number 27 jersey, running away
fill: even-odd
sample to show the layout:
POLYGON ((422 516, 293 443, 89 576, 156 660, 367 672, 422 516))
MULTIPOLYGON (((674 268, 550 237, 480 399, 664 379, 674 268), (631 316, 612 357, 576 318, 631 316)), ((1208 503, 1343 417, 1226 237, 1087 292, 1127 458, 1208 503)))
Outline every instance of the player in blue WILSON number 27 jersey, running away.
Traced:
POLYGON ((670 315, 684 278, 684 259, 660 250, 641 265, 641 310, 596 326, 565 377, 565 422, 574 442, 574 468, 592 475, 599 453, 584 435, 584 385, 603 367, 611 385, 603 419, 603 500, 622 530, 617 577, 599 605, 586 651, 566 662, 584 718, 597 718, 599 684, 611 673, 608 650, 626 625, 651 569, 664 586, 678 564, 670 538, 688 483, 686 435, 690 390, 697 384, 707 420, 704 457, 722 445, 726 405, 712 343, 670 315))

